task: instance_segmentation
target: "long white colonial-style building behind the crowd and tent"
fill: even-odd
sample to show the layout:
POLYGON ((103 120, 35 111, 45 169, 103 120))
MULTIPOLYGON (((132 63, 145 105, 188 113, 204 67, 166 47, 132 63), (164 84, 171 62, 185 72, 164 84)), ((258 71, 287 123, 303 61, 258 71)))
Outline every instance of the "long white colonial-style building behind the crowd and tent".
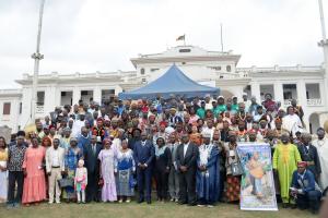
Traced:
MULTIPOLYGON (((239 55, 232 51, 208 51, 196 46, 177 46, 162 53, 139 55, 132 58, 134 71, 60 74, 51 72, 38 76, 36 118, 44 118, 56 106, 74 105, 79 99, 97 102, 130 90, 161 76, 175 63, 191 80, 221 88, 225 97, 243 93, 263 100, 270 93, 286 107, 291 99, 304 109, 304 122, 311 132, 327 119, 328 102, 324 83, 325 69, 316 66, 237 68, 239 55)), ((15 81, 19 89, 0 89, 0 125, 13 132, 31 122, 33 76, 23 74, 15 81)))

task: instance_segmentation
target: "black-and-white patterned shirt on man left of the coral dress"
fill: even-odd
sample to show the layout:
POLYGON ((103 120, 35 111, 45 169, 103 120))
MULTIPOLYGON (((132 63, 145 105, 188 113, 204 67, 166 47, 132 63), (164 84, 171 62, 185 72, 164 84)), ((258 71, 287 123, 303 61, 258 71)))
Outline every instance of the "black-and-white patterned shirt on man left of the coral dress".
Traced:
POLYGON ((13 145, 9 147, 8 156, 8 170, 9 171, 23 171, 22 165, 24 161, 24 155, 26 147, 24 145, 13 145))

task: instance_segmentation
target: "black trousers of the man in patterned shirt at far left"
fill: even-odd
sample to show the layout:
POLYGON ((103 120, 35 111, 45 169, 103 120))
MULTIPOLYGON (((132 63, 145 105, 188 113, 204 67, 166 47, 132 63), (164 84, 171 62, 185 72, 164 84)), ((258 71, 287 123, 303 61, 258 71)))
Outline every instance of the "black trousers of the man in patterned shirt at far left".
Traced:
POLYGON ((9 171, 8 175, 8 204, 21 203, 23 196, 24 172, 9 171), (17 183, 17 192, 15 196, 15 184, 17 183))

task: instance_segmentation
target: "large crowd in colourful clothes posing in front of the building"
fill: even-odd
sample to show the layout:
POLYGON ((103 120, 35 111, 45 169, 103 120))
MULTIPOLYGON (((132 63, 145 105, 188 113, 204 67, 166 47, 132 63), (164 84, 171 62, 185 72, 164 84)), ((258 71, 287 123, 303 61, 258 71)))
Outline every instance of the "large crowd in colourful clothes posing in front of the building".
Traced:
POLYGON ((151 204, 156 190, 160 202, 238 203, 238 143, 265 142, 282 207, 316 213, 328 186, 326 132, 306 132, 295 100, 284 109, 265 98, 159 95, 56 107, 11 142, 0 137, 0 201, 151 204))

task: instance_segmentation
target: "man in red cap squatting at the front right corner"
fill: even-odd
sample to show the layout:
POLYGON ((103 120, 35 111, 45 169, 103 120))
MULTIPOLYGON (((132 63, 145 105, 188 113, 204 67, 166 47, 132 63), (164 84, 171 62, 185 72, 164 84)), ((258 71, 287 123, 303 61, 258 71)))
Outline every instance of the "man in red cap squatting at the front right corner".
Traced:
POLYGON ((321 190, 315 181, 314 174, 307 170, 306 161, 297 162, 297 170, 293 172, 291 195, 300 209, 309 207, 313 214, 317 214, 320 206, 321 190))

